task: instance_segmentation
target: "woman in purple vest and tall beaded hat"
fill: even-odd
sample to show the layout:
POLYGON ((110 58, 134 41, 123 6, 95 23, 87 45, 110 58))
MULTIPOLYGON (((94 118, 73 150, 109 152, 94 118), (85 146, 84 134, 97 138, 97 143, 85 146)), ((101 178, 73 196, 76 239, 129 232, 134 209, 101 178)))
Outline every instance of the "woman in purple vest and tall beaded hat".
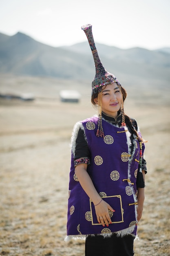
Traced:
POLYGON ((131 256, 144 204, 144 143, 124 114, 126 91, 104 69, 91 27, 82 29, 95 61, 91 101, 99 115, 73 131, 67 234, 86 238, 86 256, 131 256))

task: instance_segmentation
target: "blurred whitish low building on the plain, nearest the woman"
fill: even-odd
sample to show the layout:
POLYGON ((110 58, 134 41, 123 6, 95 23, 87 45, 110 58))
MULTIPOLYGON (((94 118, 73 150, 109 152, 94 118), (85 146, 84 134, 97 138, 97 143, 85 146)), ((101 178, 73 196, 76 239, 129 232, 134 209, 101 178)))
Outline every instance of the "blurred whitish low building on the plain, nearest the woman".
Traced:
POLYGON ((80 94, 73 90, 62 90, 60 91, 60 99, 62 102, 76 102, 80 100, 80 94))

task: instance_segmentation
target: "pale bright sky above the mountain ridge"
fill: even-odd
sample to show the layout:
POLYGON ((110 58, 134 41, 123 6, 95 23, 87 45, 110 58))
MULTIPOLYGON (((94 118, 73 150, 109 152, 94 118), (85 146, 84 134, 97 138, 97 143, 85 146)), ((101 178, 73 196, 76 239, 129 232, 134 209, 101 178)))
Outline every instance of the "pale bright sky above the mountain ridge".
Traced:
POLYGON ((87 40, 122 49, 170 47, 170 0, 0 0, 0 32, 53 47, 87 40))

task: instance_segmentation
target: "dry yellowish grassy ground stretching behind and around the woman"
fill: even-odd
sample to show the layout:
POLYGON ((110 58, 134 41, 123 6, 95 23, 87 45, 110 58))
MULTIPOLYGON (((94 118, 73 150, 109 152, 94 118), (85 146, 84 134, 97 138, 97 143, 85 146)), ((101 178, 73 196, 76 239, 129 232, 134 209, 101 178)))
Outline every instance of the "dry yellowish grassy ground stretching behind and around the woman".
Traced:
MULTIPOLYGON (((126 105, 148 140, 135 256, 170 256, 170 104, 160 102, 126 105)), ((94 113, 89 97, 0 100, 0 256, 84 255, 84 241, 64 242, 70 138, 75 122, 94 113)))

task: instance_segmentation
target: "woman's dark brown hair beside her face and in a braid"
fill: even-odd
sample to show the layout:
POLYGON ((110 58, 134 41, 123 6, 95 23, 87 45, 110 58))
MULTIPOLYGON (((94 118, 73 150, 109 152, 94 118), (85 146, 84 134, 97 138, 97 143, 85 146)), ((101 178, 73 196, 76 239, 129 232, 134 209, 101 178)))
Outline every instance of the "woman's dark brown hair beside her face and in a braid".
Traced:
MULTIPOLYGON (((107 86, 107 85, 105 85, 107 86)), ((122 94, 122 98, 123 98, 123 103, 127 97, 127 92, 126 90, 121 86, 121 85, 117 85, 120 89, 120 92, 122 94)), ((105 87, 106 88, 106 87, 105 87)), ((93 106, 97 106, 97 104, 95 103, 95 99, 98 98, 98 101, 100 102, 102 100, 102 92, 95 92, 95 93, 92 93, 91 95, 91 103, 93 104, 93 106)), ((99 103, 100 105, 100 103, 99 103)), ((120 109, 121 110, 121 109, 120 109)), ((139 135, 137 133, 137 130, 135 129, 135 127, 133 126, 132 124, 132 120, 130 119, 130 117, 128 117, 128 115, 125 115, 125 123, 130 126, 130 128, 132 129, 132 131, 135 133, 135 135, 138 137, 138 139, 141 139, 139 138, 139 135)))

